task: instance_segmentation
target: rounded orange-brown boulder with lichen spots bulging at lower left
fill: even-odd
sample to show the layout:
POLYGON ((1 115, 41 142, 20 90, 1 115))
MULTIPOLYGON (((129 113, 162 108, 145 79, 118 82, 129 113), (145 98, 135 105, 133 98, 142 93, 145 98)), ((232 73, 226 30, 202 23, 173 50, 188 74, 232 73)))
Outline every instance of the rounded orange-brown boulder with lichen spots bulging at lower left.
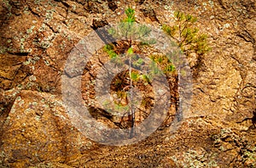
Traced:
POLYGON ((93 143, 68 123, 60 98, 49 93, 20 92, 3 124, 2 164, 27 167, 48 160, 64 163, 79 158, 93 143))

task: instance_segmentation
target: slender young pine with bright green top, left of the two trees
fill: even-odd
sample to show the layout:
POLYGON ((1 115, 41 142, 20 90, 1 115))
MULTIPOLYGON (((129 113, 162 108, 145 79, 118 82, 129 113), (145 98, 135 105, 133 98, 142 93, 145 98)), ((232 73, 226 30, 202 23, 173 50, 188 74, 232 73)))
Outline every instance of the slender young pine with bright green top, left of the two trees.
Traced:
MULTIPOLYGON (((119 47, 115 44, 108 44, 105 46, 104 50, 108 53, 111 61, 113 61, 117 65, 123 64, 122 55, 118 54, 116 51, 121 50, 125 58, 129 59, 129 78, 130 78, 130 90, 129 92, 119 92, 119 95, 121 97, 127 98, 129 95, 131 99, 131 106, 130 106, 130 116, 131 116, 131 133, 130 137, 134 137, 135 135, 135 109, 136 109, 136 103, 134 102, 134 93, 132 92, 133 82, 143 80, 145 81, 144 84, 149 84, 150 81, 154 78, 154 76, 160 75, 160 73, 170 73, 175 70, 174 65, 172 62, 166 58, 165 55, 152 55, 149 58, 152 61, 152 63, 149 65, 150 70, 148 71, 148 74, 141 74, 137 70, 132 70, 132 67, 139 68, 144 64, 143 59, 139 58, 136 53, 134 53, 133 46, 133 39, 139 39, 141 42, 139 45, 151 45, 154 44, 155 40, 150 39, 149 41, 144 39, 144 36, 148 36, 150 33, 150 28, 146 25, 137 25, 136 17, 135 17, 135 10, 132 8, 127 8, 125 10, 126 17, 124 20, 121 20, 118 28, 110 28, 108 30, 108 33, 111 34, 113 37, 120 39, 121 37, 125 36, 126 41, 128 42, 128 45, 126 45, 126 48, 119 47), (127 47, 128 46, 128 47, 127 47), (120 49, 122 48, 122 49, 120 49), (160 70, 161 69, 161 70, 160 70)), ((136 43, 137 44, 137 43, 136 43)))

